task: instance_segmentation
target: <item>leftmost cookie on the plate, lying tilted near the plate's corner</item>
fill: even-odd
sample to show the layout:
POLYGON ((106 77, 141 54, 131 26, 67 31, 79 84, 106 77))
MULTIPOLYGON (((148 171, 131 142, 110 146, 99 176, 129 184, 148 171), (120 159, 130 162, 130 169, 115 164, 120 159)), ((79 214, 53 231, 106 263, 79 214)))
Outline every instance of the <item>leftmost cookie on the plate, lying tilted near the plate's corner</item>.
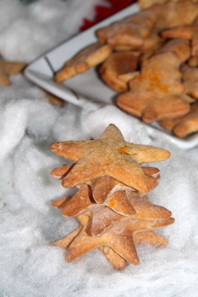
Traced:
POLYGON ((54 79, 60 83, 74 75, 83 73, 91 67, 102 63, 109 56, 111 51, 110 45, 100 42, 93 43, 67 61, 64 68, 57 72, 54 79))

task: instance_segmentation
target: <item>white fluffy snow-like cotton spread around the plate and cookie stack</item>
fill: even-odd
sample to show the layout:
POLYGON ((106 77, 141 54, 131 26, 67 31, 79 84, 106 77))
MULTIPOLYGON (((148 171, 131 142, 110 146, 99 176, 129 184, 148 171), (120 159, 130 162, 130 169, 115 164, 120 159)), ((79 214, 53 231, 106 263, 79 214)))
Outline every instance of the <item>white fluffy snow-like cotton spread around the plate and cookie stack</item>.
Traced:
MULTIPOLYGON (((93 19, 96 0, 39 0, 22 5, 1 0, 0 54, 31 61, 77 32, 82 18, 93 19)), ((106 2, 105 2, 106 3, 106 2)), ((105 4, 107 5, 107 3, 105 4)), ((192 297, 198 291, 198 154, 183 151, 138 119, 115 106, 82 102, 52 106, 44 92, 21 74, 0 86, 0 296, 2 297, 192 297), (51 178, 67 161, 53 154, 55 141, 97 138, 116 124, 129 142, 168 149, 170 159, 153 163, 160 169, 158 187, 149 200, 172 211, 173 225, 157 230, 165 248, 137 247, 140 264, 115 271, 98 249, 66 263, 65 251, 49 242, 78 227, 51 206, 73 195, 51 178)), ((149 164, 151 165, 151 164, 149 164)))

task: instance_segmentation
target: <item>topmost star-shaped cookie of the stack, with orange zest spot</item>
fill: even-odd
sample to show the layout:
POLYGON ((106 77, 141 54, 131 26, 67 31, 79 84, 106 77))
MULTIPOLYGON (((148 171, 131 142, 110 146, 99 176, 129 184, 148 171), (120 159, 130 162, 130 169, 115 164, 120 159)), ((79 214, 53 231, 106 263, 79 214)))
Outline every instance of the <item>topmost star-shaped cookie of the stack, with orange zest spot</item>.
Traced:
POLYGON ((139 164, 163 161, 170 156, 164 149, 126 142, 113 124, 99 139, 57 142, 50 148, 55 154, 77 162, 62 181, 66 188, 110 176, 139 191, 148 192, 146 177, 139 164))

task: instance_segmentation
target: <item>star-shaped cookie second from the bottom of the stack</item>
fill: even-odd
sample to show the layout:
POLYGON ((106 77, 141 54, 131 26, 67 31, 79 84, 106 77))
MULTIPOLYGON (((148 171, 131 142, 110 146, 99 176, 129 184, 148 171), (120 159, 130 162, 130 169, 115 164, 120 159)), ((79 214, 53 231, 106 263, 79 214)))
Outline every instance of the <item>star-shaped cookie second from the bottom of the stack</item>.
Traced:
POLYGON ((133 234, 138 231, 150 231, 168 226, 174 222, 173 218, 155 220, 128 219, 114 225, 109 231, 98 237, 89 235, 91 217, 86 227, 74 238, 68 247, 66 261, 75 260, 87 252, 102 246, 111 247, 116 253, 128 262, 139 263, 133 234))

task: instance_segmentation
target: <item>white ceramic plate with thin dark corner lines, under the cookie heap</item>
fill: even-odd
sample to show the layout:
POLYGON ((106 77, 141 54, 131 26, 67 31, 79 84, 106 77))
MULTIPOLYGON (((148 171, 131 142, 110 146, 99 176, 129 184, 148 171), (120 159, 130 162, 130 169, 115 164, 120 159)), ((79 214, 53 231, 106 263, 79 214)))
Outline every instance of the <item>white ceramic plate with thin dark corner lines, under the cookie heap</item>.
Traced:
MULTIPOLYGON (((83 74, 76 75, 62 84, 55 83, 53 76, 54 73, 63 66, 65 61, 73 57, 82 48, 97 41, 95 35, 97 29, 108 26, 109 24, 126 18, 128 15, 132 15, 138 11, 138 5, 132 4, 90 29, 66 40, 38 60, 29 64, 24 71, 24 75, 41 88, 75 105, 80 104, 79 99, 81 98, 86 100, 96 100, 103 103, 105 102, 106 104, 115 104, 114 100, 117 93, 107 87, 102 80, 99 79, 95 68, 92 68, 83 74)), ((194 133, 185 139, 179 139, 171 132, 164 130, 157 123, 153 123, 149 126, 151 127, 151 133, 153 129, 160 130, 180 148, 190 149, 198 145, 198 133, 194 133)))

